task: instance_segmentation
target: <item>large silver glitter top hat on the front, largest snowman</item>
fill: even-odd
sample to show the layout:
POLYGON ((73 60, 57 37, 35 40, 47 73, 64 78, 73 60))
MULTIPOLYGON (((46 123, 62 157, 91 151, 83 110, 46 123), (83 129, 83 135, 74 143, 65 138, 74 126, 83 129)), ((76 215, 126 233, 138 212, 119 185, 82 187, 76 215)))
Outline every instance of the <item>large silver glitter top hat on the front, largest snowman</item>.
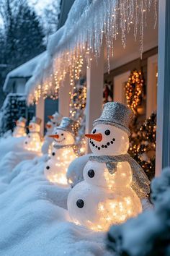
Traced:
POLYGON ((104 104, 102 115, 94 120, 96 124, 109 124, 118 127, 130 135, 129 124, 133 118, 133 111, 119 102, 108 102, 104 104))

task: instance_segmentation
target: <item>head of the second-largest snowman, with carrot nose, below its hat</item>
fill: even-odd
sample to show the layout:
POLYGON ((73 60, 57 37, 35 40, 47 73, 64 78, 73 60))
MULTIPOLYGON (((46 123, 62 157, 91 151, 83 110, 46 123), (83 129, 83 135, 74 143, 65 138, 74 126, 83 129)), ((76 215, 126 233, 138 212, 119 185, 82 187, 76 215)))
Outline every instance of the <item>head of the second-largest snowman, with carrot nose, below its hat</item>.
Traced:
POLYGON ((74 137, 71 132, 66 132, 57 127, 53 130, 53 135, 49 135, 55 140, 55 145, 73 145, 75 143, 74 137))

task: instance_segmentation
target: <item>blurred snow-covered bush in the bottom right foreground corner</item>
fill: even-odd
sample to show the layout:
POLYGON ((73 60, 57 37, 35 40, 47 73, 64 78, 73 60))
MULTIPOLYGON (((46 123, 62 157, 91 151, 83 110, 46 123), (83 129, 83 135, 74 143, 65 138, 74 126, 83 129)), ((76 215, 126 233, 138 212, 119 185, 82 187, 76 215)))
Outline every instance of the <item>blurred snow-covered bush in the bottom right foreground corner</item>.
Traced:
POLYGON ((170 255, 170 168, 153 179, 151 190, 153 210, 108 232, 107 244, 120 256, 170 255))

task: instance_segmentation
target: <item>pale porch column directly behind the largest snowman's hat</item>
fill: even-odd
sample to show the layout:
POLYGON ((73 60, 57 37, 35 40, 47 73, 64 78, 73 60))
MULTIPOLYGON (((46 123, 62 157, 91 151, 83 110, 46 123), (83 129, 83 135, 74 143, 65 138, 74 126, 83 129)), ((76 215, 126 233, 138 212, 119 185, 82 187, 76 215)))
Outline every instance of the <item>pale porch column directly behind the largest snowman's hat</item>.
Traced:
MULTIPOLYGON (((93 121, 102 113, 104 81, 104 51, 102 48, 99 59, 95 57, 86 69, 86 133, 91 132, 93 121)), ((86 141, 87 142, 87 141, 86 141)), ((89 153, 89 144, 86 143, 86 153, 89 153)))

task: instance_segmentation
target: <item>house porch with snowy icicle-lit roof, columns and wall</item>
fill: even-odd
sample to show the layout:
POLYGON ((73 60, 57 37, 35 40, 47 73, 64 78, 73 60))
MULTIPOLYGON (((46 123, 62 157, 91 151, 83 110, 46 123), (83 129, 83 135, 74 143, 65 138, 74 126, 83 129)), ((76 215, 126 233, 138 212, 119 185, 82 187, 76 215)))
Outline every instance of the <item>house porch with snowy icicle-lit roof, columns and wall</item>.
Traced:
MULTIPOLYGON (((156 4, 156 1, 145 3, 156 4)), ((128 10, 122 12, 122 9, 115 7, 114 4, 114 1, 74 2, 65 25, 53 35, 48 46, 49 65, 45 67, 45 72, 50 74, 48 71, 53 67, 53 73, 44 77, 44 80, 38 84, 32 83, 32 87, 27 83, 27 96, 32 95, 34 98, 38 94, 37 113, 44 113, 45 101, 41 91, 49 93, 50 90, 56 89, 59 94, 59 111, 63 116, 70 116, 70 95, 73 80, 79 77, 76 66, 78 64, 81 72, 86 75, 86 132, 89 132, 92 122, 102 111, 104 81, 107 80, 113 85, 113 100, 125 102, 125 95, 122 92, 130 72, 133 69, 142 69, 146 83, 143 113, 148 117, 152 111, 157 111, 156 175, 158 175, 163 167, 170 165, 168 57, 170 15, 167 11, 169 3, 159 1, 159 12, 154 5, 141 6, 140 9, 137 6, 137 20, 134 13, 126 16, 128 10), (117 30, 117 12, 122 12, 121 22, 118 20, 120 30, 117 30), (157 26, 154 28, 157 16, 157 26), (128 21, 123 17, 128 19, 134 17, 134 20, 129 20, 133 29, 127 30, 130 25, 127 25, 128 21), (143 52, 142 59, 140 59, 141 52, 143 52), (50 80, 53 79, 51 77, 54 77, 55 83, 50 87, 50 80)), ((44 70, 43 65, 39 72, 41 69, 44 70)), ((89 148, 87 147, 86 150, 88 152, 89 148)))

